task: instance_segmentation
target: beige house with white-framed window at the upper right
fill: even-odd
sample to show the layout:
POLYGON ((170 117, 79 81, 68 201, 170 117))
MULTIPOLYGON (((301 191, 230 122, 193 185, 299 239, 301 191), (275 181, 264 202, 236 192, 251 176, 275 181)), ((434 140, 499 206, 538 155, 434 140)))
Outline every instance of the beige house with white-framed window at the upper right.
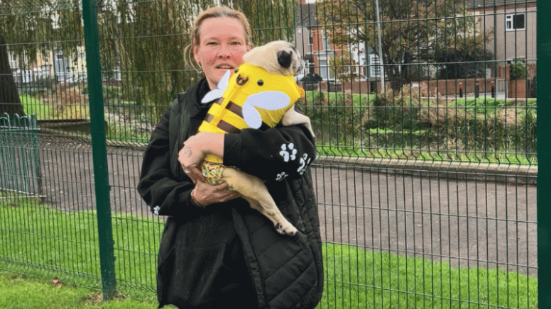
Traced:
POLYGON ((513 61, 526 64, 528 79, 535 76, 537 4, 537 0, 467 1, 469 12, 481 16, 481 28, 493 34, 486 45, 495 59, 489 65, 489 77, 496 77, 496 81, 509 79, 508 67, 513 61))

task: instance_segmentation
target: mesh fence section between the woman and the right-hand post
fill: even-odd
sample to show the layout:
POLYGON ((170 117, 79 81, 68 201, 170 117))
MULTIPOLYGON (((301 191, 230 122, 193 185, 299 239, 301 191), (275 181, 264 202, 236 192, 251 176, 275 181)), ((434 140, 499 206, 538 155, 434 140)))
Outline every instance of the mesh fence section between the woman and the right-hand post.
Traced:
POLYGON ((536 1, 298 6, 305 86, 317 89, 303 104, 320 154, 322 306, 535 307, 536 11, 536 1))

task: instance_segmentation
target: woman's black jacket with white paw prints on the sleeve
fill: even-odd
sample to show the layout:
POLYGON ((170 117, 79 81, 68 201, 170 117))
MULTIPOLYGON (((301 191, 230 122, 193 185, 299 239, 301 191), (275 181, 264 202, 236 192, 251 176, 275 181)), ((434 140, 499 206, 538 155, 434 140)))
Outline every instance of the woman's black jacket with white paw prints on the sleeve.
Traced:
POLYGON ((239 237, 260 308, 315 308, 322 296, 320 221, 310 169, 315 145, 302 126, 246 129, 224 138, 224 164, 266 180, 283 215, 298 228, 279 235, 268 218, 244 199, 194 206, 195 186, 183 173, 178 152, 197 131, 210 103, 205 79, 179 94, 151 135, 138 192, 158 215, 168 215, 158 254, 159 307, 180 308, 209 300, 223 271, 228 242, 239 237))

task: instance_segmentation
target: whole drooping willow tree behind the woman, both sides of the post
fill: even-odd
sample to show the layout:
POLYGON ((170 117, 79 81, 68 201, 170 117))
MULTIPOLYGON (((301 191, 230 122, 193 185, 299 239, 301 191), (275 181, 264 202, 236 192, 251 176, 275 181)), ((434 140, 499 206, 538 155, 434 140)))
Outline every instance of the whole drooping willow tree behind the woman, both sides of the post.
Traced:
MULTIPOLYGON (((197 13, 218 5, 239 9, 249 17, 253 43, 293 40, 295 4, 291 0, 97 1, 101 59, 97 65, 104 83, 121 84, 125 99, 138 106, 153 106, 152 113, 158 116, 178 92, 200 78, 200 72, 185 61, 185 51, 197 13)), ((0 47, 16 54, 22 68, 36 61, 38 52, 60 51, 75 60, 78 47, 84 45, 81 12, 82 0, 0 0, 0 47)), ((1 92, 18 100, 11 69, 2 65, 7 63, 6 52, 0 60, 2 79, 6 85, 11 81, 1 92), (4 91, 6 87, 9 91, 4 91)), ((0 102, 4 108, 0 111, 10 106, 11 113, 21 113, 21 103, 15 100, 4 100, 9 105, 0 102)))

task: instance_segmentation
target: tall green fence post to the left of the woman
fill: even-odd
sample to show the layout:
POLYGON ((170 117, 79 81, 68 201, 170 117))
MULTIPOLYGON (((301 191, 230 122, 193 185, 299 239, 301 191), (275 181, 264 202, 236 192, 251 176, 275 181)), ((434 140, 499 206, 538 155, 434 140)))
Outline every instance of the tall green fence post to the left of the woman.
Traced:
POLYGON ((92 157, 94 159, 99 262, 102 270, 103 297, 104 300, 108 300, 114 296, 116 280, 96 0, 82 0, 82 18, 84 19, 84 46, 88 74, 92 157))

